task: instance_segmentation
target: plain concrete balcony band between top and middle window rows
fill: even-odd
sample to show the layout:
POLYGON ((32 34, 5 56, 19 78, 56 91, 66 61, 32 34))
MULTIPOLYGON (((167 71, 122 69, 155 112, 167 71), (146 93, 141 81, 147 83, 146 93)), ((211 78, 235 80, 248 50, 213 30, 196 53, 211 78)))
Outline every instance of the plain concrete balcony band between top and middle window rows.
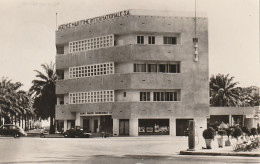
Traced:
MULTIPOLYGON (((192 55, 182 55, 182 45, 124 45, 97 50, 57 55, 56 68, 129 61, 184 61, 192 55)), ((187 51, 189 48, 185 48, 187 51)), ((192 52, 192 46, 190 47, 192 52)))

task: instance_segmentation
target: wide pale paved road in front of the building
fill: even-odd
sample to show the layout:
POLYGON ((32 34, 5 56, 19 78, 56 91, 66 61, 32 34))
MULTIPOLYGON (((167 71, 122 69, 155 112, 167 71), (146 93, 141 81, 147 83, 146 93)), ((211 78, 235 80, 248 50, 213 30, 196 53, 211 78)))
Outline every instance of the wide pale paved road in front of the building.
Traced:
POLYGON ((254 157, 182 156, 186 137, 0 138, 1 163, 260 163, 254 157))

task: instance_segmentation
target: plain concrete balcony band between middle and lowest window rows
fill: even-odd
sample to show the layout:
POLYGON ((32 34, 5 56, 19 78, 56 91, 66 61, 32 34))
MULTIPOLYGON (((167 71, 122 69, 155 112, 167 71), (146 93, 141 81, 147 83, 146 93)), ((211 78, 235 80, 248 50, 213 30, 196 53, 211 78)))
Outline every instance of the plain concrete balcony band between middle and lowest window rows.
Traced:
MULTIPOLYGON (((56 94, 119 89, 182 89, 182 73, 127 73, 56 81, 56 94)), ((188 82, 188 81, 187 81, 188 82)))

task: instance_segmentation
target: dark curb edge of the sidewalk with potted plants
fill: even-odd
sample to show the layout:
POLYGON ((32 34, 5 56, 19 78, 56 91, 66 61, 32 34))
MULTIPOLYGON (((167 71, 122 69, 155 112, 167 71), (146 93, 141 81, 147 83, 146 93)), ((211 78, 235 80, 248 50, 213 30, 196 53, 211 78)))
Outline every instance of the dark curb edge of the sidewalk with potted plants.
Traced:
POLYGON ((257 153, 221 153, 221 152, 195 152, 195 151, 180 151, 180 155, 208 155, 208 156, 243 156, 243 157, 260 157, 257 153))

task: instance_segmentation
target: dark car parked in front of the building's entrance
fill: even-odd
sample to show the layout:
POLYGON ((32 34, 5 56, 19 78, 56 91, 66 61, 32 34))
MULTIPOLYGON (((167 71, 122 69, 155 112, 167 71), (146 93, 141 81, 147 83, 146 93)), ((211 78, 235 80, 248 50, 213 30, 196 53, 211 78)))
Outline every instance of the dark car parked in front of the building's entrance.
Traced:
POLYGON ((81 137, 81 138, 89 138, 92 134, 81 129, 80 126, 76 126, 76 128, 71 128, 70 130, 67 130, 63 133, 64 137, 66 138, 75 138, 75 137, 81 137))

